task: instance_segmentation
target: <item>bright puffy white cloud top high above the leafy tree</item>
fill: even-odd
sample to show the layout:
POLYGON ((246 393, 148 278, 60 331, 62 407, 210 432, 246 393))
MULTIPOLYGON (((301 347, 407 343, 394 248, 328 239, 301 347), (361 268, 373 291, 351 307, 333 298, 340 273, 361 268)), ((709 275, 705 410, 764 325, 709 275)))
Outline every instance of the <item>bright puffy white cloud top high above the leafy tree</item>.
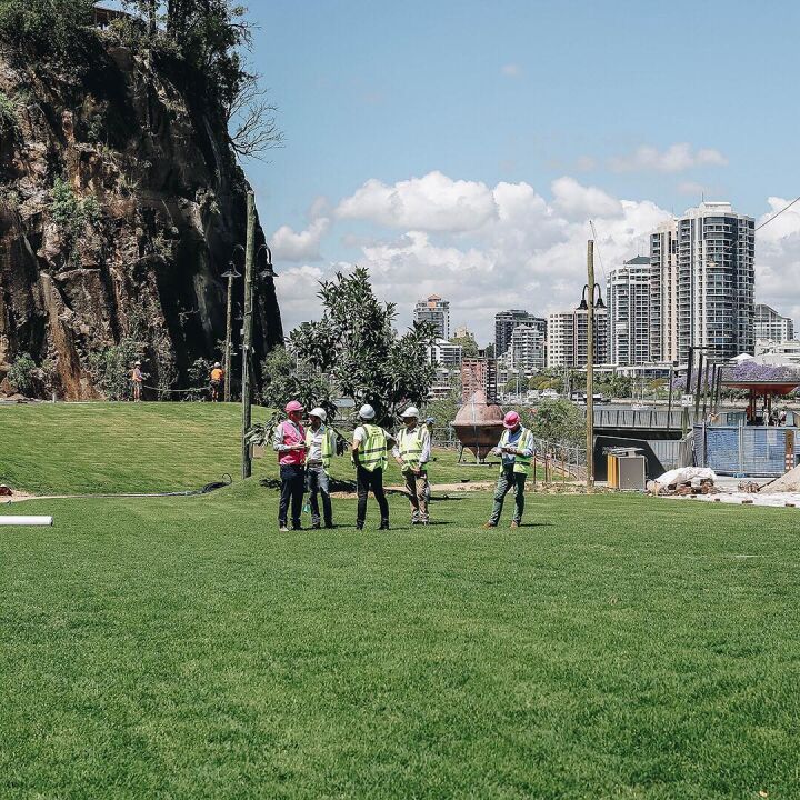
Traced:
POLYGON ((368 180, 339 203, 337 216, 404 230, 467 231, 496 217, 497 207, 486 183, 429 172, 393 186, 368 180))

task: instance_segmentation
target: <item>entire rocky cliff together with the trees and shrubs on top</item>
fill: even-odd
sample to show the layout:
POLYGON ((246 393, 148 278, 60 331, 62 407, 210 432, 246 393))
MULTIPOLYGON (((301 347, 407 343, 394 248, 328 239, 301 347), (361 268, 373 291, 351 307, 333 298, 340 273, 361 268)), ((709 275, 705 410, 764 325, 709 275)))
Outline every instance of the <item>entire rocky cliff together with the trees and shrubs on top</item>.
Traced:
MULTIPOLYGON (((224 339, 237 154, 279 141, 240 54, 250 31, 223 0, 128 6, 144 16, 0 0, 0 391, 29 353, 48 394, 118 397, 136 351, 163 392, 224 339)), ((260 280, 258 358, 282 340, 260 280)), ((242 299, 234 286, 234 317, 242 299)))

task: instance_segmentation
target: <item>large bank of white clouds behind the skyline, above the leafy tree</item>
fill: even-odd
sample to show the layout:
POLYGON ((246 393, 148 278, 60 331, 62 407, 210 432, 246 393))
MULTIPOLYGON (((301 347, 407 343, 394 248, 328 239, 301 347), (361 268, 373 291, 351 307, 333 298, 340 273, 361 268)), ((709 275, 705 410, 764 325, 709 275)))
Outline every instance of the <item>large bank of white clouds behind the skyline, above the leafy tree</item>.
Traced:
MULTIPOLYGON (((573 178, 554 181, 551 192, 548 200, 526 182, 489 188, 438 172, 392 187, 368 181, 340 203, 346 213, 338 224, 352 218, 383 227, 383 234, 342 231, 342 239, 359 250, 354 260, 369 268, 378 296, 398 304, 401 326, 410 322, 417 300, 436 292, 451 301, 453 326, 467 324, 489 341, 498 310, 544 314, 578 302, 586 282, 589 218, 596 221, 607 269, 646 247, 650 230, 669 218, 651 202, 620 201, 573 178), (456 208, 447 208, 447 197, 456 208), (401 221, 423 224, 392 233, 401 221)), ((338 268, 331 264, 323 273, 329 277, 338 268)), ((599 260, 597 272, 601 278, 599 260)), ((287 330, 318 313, 316 286, 308 284, 312 274, 318 279, 317 272, 292 270, 280 287, 287 330)))

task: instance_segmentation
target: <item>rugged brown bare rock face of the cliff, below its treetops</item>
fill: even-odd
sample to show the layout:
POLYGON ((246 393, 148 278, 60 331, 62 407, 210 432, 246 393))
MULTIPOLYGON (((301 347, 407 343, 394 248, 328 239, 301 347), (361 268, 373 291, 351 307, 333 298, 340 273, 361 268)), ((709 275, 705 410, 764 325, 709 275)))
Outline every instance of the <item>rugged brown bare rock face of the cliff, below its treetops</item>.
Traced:
MULTIPOLYGON (((123 339, 148 382, 187 386, 219 357, 246 238, 248 184, 202 92, 100 32, 77 70, 0 56, 0 391, 29 352, 62 397, 98 397, 90 357, 123 339)), ((282 340, 272 279, 253 297, 260 358, 282 340)))

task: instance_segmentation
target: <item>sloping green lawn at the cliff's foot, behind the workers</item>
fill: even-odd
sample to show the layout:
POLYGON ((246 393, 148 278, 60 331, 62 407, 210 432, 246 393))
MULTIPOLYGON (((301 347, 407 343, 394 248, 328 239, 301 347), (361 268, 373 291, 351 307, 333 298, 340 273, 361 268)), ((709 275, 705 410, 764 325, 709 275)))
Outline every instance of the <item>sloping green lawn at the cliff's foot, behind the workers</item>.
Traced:
MULTIPOLYGON (((253 420, 266 419, 253 409, 253 420)), ((234 403, 58 403, 0 406, 0 482, 34 494, 162 492, 196 489, 241 474, 241 406, 234 403)), ((496 467, 458 463, 437 450, 430 468, 439 483, 493 480, 496 467)), ((253 461, 259 478, 277 478, 277 457, 253 461)), ((332 474, 352 481, 349 457, 332 474)), ((393 460, 388 484, 402 484, 393 460)))

